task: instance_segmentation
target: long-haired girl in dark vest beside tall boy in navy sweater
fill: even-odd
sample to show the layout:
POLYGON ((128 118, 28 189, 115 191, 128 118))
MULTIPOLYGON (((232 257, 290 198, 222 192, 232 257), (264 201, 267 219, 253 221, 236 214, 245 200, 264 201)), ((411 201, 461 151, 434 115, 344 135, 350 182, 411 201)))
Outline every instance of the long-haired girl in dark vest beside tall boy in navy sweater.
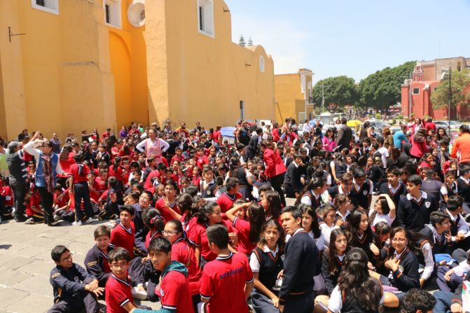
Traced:
POLYGON ((254 288, 251 302, 256 313, 278 313, 279 298, 275 291, 276 280, 282 271, 284 250, 284 229, 277 221, 263 224, 261 239, 251 252, 249 265, 254 274, 254 288))

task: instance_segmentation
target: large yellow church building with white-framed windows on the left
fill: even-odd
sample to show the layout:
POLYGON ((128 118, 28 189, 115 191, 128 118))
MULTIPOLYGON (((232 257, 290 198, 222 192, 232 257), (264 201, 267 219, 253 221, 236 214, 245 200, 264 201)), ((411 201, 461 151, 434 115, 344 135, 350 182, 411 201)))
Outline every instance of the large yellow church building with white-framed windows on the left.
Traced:
POLYGON ((0 1, 0 135, 272 119, 274 65, 221 0, 0 1))

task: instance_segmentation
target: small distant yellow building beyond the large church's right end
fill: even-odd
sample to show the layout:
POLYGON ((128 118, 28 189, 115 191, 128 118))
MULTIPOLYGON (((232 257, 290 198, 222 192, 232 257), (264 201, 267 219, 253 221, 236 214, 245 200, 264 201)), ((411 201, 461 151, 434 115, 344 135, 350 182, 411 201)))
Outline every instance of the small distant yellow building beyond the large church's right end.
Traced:
POLYGON ((313 117, 312 76, 310 69, 299 69, 296 74, 275 75, 276 120, 284 123, 295 118, 298 123, 313 117))

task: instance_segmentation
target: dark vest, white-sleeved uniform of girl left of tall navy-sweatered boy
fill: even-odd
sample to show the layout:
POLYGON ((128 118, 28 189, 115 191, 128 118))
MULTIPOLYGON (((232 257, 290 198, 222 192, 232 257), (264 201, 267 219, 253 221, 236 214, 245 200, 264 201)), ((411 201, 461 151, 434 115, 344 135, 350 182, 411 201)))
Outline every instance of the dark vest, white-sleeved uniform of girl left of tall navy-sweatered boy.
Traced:
MULTIPOLYGON (((279 274, 284 265, 280 254, 278 246, 276 246, 275 251, 270 250, 268 246, 263 246, 263 249, 256 246, 251 252, 251 258, 249 259, 251 271, 258 273, 258 280, 261 284, 275 295, 277 295, 278 291, 275 291, 273 287, 276 284, 277 274, 279 274)), ((255 312, 279 312, 279 309, 272 305, 270 298, 257 288, 253 288, 251 291, 251 303, 255 312)))

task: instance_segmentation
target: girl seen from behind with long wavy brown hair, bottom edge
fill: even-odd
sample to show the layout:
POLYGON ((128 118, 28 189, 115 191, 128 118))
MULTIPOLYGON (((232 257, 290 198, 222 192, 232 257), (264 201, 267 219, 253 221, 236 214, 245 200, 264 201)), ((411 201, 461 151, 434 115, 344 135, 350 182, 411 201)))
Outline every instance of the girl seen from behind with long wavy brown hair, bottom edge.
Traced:
POLYGON ((331 293, 330 312, 378 312, 384 293, 380 282, 369 274, 367 263, 364 250, 352 248, 347 252, 338 286, 331 293))

